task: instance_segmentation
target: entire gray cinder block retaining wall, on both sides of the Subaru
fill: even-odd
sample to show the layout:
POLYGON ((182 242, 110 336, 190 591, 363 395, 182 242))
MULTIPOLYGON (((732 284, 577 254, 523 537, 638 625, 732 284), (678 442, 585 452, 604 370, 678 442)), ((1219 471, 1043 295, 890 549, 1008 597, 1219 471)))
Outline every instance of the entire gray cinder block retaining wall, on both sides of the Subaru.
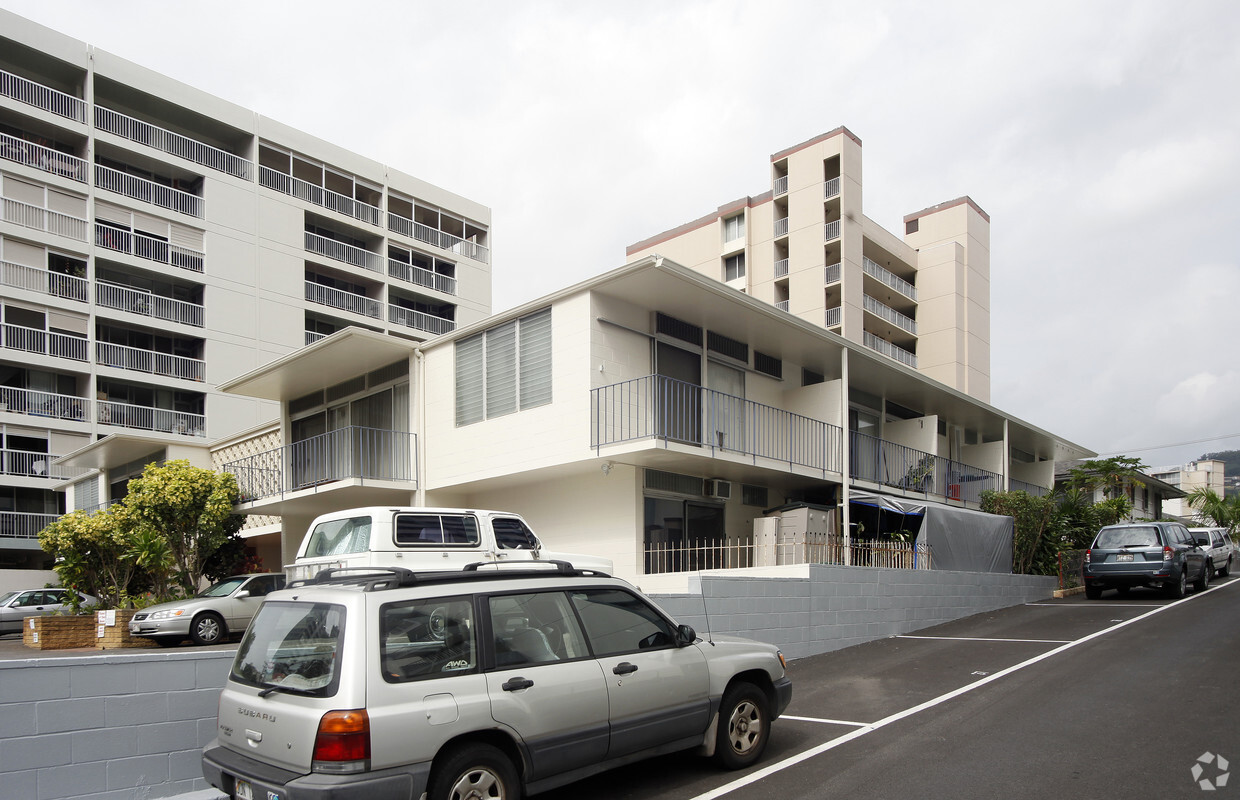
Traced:
MULTIPOLYGON (((1050 597, 1054 578, 812 567, 808 578, 701 578, 657 594, 680 621, 779 645, 792 659, 1050 597)), ((229 650, 0 661, 0 796, 212 796, 201 748, 216 729, 229 650)))

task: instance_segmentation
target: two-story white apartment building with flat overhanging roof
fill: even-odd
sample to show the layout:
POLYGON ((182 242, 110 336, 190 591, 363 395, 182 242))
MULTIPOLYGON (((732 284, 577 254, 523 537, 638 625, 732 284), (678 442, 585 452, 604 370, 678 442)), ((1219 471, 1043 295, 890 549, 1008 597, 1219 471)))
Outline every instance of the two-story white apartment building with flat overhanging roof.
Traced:
POLYGON ((986 489, 1043 492, 1056 460, 1091 455, 656 257, 423 344, 341 331, 222 389, 279 403, 216 460, 242 511, 283 518, 253 542, 284 563, 324 511, 465 506, 520 512, 552 549, 652 587, 758 566, 756 521, 787 502, 821 510, 838 544, 875 504, 977 509, 986 489), (396 433, 298 434, 376 404, 404 414, 396 433))

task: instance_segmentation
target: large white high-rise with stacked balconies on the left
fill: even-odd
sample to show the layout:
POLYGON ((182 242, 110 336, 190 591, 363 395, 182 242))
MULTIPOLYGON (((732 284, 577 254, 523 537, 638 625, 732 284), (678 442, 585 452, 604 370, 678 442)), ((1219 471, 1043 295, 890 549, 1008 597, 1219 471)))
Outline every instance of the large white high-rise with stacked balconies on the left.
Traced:
MULTIPOLYGON (((420 341, 491 311, 486 207, 2 10, 0 197, 0 569, 42 561, 53 487, 91 473, 57 456, 126 434, 72 492, 104 504, 279 413, 222 382, 347 326, 420 341)), ((393 422, 305 412, 285 435, 393 422)))

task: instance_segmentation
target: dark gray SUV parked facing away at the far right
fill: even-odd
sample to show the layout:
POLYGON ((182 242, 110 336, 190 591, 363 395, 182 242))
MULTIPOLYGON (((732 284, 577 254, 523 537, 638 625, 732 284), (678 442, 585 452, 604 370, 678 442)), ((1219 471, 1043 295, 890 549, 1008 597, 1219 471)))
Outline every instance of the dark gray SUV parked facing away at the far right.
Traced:
POLYGON ((1085 551, 1083 572, 1085 595, 1094 600, 1105 589, 1123 593, 1132 587, 1162 588, 1182 598, 1189 582, 1204 590, 1211 569, 1205 548, 1187 527, 1158 521, 1104 527, 1085 551))

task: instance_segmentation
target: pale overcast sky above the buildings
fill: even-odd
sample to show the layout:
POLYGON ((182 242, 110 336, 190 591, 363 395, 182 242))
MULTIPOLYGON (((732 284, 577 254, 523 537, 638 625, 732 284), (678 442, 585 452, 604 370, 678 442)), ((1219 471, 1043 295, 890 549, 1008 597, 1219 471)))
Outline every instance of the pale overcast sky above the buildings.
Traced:
POLYGON ((991 215, 992 404, 1152 466, 1240 449, 1231 0, 0 6, 489 206, 497 311, 846 125, 883 227, 991 215))

